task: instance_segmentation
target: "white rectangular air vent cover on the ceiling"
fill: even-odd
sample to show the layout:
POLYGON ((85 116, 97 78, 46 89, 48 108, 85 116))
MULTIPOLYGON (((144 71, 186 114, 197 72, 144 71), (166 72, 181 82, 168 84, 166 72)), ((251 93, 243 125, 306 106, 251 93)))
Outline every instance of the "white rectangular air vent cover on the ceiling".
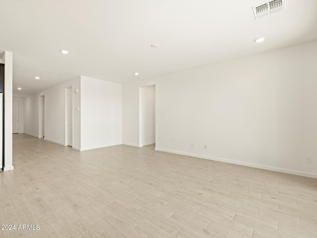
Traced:
POLYGON ((267 16, 277 11, 283 10, 285 0, 272 0, 253 7, 254 16, 256 19, 267 16))

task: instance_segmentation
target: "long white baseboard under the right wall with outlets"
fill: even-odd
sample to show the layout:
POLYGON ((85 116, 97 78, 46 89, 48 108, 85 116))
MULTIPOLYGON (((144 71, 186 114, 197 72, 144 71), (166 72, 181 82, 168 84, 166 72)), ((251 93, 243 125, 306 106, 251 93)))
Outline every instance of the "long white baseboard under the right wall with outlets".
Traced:
POLYGON ((263 170, 270 170, 270 171, 275 171, 275 172, 281 172, 281 173, 286 173, 286 174, 291 174, 291 175, 298 175, 298 176, 304 176, 304 177, 317 179, 317 174, 310 174, 310 173, 305 173, 305 172, 300 172, 300 171, 295 171, 295 170, 286 170, 286 169, 280 169, 280 168, 269 167, 269 166, 264 166, 264 165, 256 165, 256 164, 250 164, 250 163, 245 163, 245 162, 240 162, 240 161, 226 160, 226 159, 214 158, 214 157, 210 157, 210 156, 196 155, 196 154, 190 154, 190 153, 184 153, 184 152, 172 151, 172 150, 165 150, 165 149, 159 149, 159 148, 155 148, 155 150, 161 151, 161 152, 177 154, 177 155, 191 156, 191 157, 200 158, 200 159, 214 160, 214 161, 219 161, 219 162, 224 162, 224 163, 229 163, 229 164, 243 165, 243 166, 247 166, 247 167, 253 167, 253 168, 258 168, 258 169, 263 169, 263 170))

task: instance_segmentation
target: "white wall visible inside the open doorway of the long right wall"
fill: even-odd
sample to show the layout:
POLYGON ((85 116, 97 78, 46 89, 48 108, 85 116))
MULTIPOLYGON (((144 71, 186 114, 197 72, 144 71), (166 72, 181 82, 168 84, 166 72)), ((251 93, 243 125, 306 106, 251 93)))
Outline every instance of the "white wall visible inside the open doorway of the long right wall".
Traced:
POLYGON ((155 85, 142 89, 142 143, 155 143, 155 85))

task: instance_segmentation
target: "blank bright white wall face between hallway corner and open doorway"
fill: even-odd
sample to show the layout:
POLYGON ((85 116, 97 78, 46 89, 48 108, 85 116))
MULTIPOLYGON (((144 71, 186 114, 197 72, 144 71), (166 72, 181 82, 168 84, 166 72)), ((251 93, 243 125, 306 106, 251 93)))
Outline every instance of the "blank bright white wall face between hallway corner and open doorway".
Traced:
POLYGON ((122 85, 81 76, 81 150, 122 143, 122 85))

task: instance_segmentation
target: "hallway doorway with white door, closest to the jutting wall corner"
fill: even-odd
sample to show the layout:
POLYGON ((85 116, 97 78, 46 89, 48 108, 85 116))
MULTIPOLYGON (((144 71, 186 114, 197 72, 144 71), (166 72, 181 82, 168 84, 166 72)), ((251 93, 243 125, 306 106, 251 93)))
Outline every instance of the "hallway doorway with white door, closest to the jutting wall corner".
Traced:
POLYGON ((73 88, 65 88, 65 145, 73 147, 73 88))

